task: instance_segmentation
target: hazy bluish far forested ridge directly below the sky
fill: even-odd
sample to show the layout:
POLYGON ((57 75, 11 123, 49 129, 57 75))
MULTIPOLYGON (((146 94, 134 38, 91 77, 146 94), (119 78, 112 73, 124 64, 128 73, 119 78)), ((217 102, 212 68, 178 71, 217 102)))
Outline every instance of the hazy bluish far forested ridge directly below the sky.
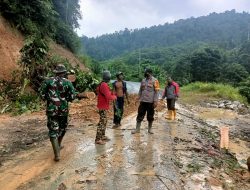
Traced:
POLYGON ((247 40, 250 14, 212 13, 135 30, 125 29, 97 38, 82 37, 84 52, 97 60, 107 60, 138 48, 170 47, 183 43, 215 43, 232 49, 247 40))

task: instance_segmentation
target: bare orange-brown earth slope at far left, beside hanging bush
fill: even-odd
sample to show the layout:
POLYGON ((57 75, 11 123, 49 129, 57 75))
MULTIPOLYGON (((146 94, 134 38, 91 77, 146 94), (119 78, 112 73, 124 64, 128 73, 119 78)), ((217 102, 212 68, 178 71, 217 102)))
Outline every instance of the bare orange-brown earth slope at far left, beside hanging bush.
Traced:
POLYGON ((11 74, 17 70, 23 37, 0 17, 0 80, 10 80, 11 74))

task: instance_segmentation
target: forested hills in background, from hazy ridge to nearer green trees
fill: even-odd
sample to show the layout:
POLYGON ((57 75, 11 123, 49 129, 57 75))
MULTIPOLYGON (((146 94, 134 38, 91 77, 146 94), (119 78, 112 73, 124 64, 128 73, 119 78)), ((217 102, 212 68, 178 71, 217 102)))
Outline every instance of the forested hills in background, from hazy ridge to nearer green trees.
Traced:
POLYGON ((151 67, 162 83, 167 76, 181 85, 228 83, 250 98, 249 30, 250 14, 232 10, 81 40, 83 52, 97 60, 91 64, 96 74, 123 71, 127 80, 140 81, 151 67))

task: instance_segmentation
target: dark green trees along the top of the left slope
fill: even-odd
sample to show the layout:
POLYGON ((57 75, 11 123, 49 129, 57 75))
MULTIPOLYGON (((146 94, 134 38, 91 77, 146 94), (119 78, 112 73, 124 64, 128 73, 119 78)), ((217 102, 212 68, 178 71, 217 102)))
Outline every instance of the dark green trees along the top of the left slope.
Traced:
POLYGON ((50 37, 72 52, 79 48, 73 30, 81 18, 79 0, 2 0, 0 12, 25 36, 50 37))

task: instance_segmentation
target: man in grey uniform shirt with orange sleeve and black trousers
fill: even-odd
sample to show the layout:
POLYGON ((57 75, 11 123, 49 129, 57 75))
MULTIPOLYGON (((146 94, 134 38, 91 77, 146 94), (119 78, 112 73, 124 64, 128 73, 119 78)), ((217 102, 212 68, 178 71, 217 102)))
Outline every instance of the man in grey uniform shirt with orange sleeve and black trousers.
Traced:
POLYGON ((132 131, 132 134, 140 133, 141 122, 146 113, 148 120, 148 133, 153 134, 152 125, 154 121, 154 109, 158 104, 160 85, 158 80, 153 77, 152 73, 152 69, 145 69, 145 78, 141 82, 138 94, 140 105, 136 118, 136 129, 132 131))

